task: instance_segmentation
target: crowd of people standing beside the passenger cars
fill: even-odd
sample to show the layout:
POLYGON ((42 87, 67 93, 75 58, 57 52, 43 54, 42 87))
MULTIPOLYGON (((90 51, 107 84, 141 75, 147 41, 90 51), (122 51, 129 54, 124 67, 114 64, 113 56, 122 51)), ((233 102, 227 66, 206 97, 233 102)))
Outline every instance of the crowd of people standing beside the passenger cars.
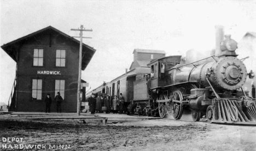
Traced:
POLYGON ((120 93, 119 98, 111 98, 110 95, 98 95, 92 93, 89 100, 89 110, 91 114, 94 113, 103 113, 102 107, 106 108, 106 113, 113 113, 119 112, 119 114, 126 113, 129 114, 127 111, 128 103, 125 101, 125 98, 122 93, 120 93), (97 96, 97 97, 96 97, 97 96))

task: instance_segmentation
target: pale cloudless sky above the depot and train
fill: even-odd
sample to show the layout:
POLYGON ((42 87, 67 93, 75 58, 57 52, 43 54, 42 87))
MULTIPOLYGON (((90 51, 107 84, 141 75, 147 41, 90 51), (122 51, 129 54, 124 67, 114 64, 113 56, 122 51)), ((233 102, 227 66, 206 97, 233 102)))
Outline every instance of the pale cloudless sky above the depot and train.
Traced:
MULTIPOLYGON (((83 42, 96 49, 82 71, 89 88, 111 81, 130 68, 134 49, 164 50, 166 56, 190 49, 214 49, 215 25, 240 41, 256 32, 255 1, 0 1, 0 45, 53 26, 71 36, 83 25, 83 42)), ((79 39, 78 39, 79 40, 79 39)), ((0 102, 8 102, 16 63, 0 50, 0 102)), ((88 88, 88 89, 89 89, 88 88)))

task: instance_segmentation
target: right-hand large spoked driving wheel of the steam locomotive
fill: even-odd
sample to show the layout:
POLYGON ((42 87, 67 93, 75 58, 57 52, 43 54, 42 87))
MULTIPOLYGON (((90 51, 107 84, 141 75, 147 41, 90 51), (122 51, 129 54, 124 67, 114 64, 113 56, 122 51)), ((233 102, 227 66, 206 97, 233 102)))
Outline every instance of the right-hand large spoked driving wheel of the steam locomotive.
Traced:
POLYGON ((174 119, 181 119, 183 113, 182 105, 183 95, 180 90, 176 90, 172 94, 171 110, 174 119))

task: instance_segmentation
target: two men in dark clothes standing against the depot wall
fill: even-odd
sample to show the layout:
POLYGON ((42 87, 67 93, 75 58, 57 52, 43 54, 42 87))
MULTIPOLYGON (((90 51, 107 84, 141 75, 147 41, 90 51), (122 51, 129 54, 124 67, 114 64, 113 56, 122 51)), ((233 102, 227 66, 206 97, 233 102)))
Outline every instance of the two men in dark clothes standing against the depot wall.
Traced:
MULTIPOLYGON (((46 98, 44 99, 45 113, 47 113, 47 112, 50 113, 51 101, 52 100, 51 100, 50 94, 47 94, 46 98)), ((55 96, 54 101, 56 101, 57 112, 61 113, 61 102, 63 101, 63 98, 61 97, 60 92, 57 92, 57 95, 55 96)))

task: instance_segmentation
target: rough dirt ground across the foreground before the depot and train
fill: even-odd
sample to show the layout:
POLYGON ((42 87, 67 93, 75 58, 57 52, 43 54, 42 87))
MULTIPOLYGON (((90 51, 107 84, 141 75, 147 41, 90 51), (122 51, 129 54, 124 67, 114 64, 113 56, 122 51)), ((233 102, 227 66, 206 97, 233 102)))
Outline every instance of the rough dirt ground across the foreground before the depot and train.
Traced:
POLYGON ((0 137, 0 150, 11 150, 3 148, 9 144, 12 147, 15 144, 45 146, 13 150, 256 150, 255 126, 171 119, 106 125, 97 120, 83 123, 79 120, 1 119, 0 137), (3 137, 22 137, 23 140, 5 142, 3 137))

